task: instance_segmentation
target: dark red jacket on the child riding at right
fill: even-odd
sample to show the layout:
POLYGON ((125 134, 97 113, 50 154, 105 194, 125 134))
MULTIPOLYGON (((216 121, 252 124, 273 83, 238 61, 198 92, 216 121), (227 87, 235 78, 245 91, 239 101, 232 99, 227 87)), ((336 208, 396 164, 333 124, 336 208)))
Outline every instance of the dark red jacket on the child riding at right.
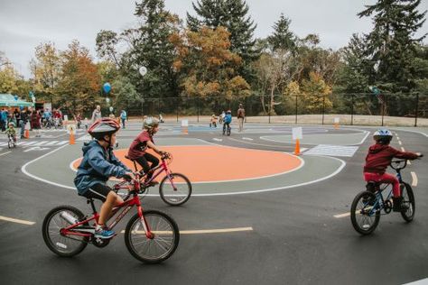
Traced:
POLYGON ((392 146, 376 143, 368 149, 364 172, 384 174, 394 158, 415 160, 418 156, 414 152, 400 152, 392 146))

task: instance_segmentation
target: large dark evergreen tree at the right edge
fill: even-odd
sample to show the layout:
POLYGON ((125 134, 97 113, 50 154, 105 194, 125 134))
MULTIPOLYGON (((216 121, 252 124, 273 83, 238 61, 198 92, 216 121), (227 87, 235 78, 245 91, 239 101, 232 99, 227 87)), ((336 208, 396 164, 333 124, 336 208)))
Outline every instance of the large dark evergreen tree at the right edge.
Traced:
POLYGON ((378 0, 358 14, 373 16, 375 24, 368 34, 366 53, 375 68, 372 83, 394 92, 408 92, 415 87, 412 66, 415 45, 426 36, 414 38, 425 22, 426 11, 417 10, 420 4, 421 0, 378 0))

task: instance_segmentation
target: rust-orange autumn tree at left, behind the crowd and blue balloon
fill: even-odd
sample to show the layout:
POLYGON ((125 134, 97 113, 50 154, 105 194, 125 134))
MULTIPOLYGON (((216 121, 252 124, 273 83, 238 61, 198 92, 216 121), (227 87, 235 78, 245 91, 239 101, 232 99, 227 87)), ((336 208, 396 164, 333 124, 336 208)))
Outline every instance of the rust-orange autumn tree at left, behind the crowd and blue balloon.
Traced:
POLYGON ((99 101, 101 78, 97 65, 88 49, 72 41, 67 51, 61 52, 61 74, 57 92, 57 105, 67 107, 72 113, 91 109, 99 101))

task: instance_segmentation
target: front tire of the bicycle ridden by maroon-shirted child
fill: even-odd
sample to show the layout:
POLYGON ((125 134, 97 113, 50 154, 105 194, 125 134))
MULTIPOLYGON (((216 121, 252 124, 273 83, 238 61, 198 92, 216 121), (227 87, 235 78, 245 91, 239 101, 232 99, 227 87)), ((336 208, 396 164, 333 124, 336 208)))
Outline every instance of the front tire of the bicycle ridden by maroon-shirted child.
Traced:
POLYGON ((186 203, 191 198, 191 180, 189 180, 186 176, 181 173, 171 173, 170 177, 173 179, 180 180, 175 186, 180 186, 179 190, 175 190, 172 188, 172 184, 165 184, 166 182, 171 182, 168 176, 165 176, 161 184, 159 185, 159 194, 168 205, 171 206, 180 206, 186 203), (167 187, 168 185, 168 187, 167 187), (175 191, 179 192, 179 194, 175 194, 175 191))

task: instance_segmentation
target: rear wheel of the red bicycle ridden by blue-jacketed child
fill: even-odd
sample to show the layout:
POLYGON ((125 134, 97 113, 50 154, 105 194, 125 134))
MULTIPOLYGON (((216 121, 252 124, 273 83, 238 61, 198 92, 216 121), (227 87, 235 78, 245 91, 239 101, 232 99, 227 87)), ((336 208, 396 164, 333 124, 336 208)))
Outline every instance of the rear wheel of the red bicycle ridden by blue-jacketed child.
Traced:
POLYGON ((83 219, 84 217, 79 209, 71 206, 60 206, 51 209, 43 220, 43 240, 53 253, 64 257, 70 257, 81 253, 85 249, 88 245, 88 237, 79 235, 69 237, 60 234, 61 228, 70 226, 70 223, 60 216, 62 212, 66 212, 76 220, 83 219))

